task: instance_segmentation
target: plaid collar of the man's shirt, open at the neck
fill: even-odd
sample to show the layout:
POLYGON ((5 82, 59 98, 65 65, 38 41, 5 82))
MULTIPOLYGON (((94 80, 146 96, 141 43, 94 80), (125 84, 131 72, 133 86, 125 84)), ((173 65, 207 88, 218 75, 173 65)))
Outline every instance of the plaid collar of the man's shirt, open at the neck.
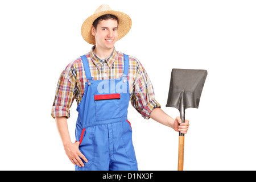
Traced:
POLYGON ((115 51, 115 47, 114 47, 111 55, 109 55, 109 57, 107 57, 105 60, 100 59, 99 57, 96 56, 96 54, 93 52, 94 48, 95 48, 95 46, 93 46, 92 49, 90 50, 90 58, 92 59, 93 63, 96 65, 98 70, 101 69, 101 67, 104 64, 104 61, 106 61, 109 68, 112 69, 113 63, 114 63, 115 59, 117 58, 117 51, 115 51))

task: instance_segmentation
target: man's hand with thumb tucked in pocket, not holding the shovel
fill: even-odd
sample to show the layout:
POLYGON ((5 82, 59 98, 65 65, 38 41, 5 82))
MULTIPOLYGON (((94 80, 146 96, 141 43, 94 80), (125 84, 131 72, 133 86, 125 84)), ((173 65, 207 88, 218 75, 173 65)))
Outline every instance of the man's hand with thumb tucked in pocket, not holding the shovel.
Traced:
POLYGON ((85 156, 80 152, 79 150, 79 142, 76 143, 70 143, 68 144, 67 147, 64 147, 65 152, 69 158, 69 160, 71 160, 71 162, 75 165, 78 165, 79 167, 84 167, 84 163, 82 162, 82 160, 80 159, 80 157, 82 159, 84 159, 84 161, 87 163, 88 160, 85 158, 85 156))

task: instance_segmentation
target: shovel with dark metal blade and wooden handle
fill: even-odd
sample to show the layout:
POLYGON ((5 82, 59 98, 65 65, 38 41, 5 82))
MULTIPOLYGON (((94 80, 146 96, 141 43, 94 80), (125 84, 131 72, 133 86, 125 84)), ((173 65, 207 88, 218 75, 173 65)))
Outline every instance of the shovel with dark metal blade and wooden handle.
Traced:
MULTIPOLYGON (((206 77, 207 71, 203 69, 172 69, 166 107, 179 109, 183 123, 185 109, 198 108, 206 77)), ((178 171, 183 171, 183 160, 184 134, 179 132, 178 171)))

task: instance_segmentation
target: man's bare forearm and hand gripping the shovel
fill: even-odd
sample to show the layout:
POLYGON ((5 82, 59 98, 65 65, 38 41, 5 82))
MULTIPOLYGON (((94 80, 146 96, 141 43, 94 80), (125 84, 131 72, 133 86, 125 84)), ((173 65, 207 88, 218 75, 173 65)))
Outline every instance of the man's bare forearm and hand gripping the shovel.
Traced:
POLYGON ((149 117, 163 125, 171 127, 175 131, 180 131, 183 134, 186 134, 188 131, 189 121, 187 119, 185 119, 184 123, 181 123, 180 117, 176 117, 176 119, 174 119, 164 113, 164 111, 159 107, 155 107, 149 117))

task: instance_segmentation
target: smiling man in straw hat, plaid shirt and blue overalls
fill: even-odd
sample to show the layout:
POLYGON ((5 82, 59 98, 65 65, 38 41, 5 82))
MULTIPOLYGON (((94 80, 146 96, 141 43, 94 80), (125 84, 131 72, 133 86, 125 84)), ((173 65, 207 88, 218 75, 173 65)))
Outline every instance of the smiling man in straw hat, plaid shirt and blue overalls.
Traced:
POLYGON ((160 109, 141 63, 115 51, 115 42, 130 28, 128 15, 108 5, 98 7, 81 29, 85 41, 95 46, 72 61, 59 78, 52 117, 76 170, 138 170, 127 119, 130 100, 142 117, 187 133, 188 120, 181 123, 160 109), (72 143, 67 118, 75 99, 79 115, 72 143))

